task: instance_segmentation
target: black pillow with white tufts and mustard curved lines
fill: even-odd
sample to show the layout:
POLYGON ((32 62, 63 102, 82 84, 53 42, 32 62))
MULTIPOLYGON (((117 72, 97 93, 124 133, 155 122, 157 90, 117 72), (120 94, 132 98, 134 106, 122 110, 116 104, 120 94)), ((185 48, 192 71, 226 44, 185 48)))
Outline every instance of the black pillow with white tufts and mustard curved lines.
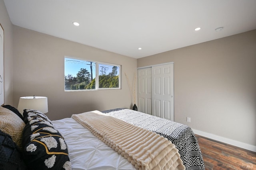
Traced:
POLYGON ((23 131, 23 156, 29 169, 71 170, 66 142, 46 115, 25 110, 27 119, 23 131))

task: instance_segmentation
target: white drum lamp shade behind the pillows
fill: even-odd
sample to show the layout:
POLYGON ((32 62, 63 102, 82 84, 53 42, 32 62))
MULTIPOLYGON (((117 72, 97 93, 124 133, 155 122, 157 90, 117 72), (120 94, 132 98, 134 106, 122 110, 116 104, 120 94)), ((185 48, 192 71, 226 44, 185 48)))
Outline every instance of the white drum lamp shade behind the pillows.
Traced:
POLYGON ((42 96, 27 96, 21 97, 18 104, 18 111, 23 114, 24 109, 35 109, 42 113, 48 112, 47 97, 42 96))

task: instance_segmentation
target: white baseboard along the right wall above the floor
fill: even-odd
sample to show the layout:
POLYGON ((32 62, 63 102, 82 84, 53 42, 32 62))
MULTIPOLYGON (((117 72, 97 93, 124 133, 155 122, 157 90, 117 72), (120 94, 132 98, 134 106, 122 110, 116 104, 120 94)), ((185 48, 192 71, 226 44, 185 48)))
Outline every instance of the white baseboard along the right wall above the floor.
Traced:
POLYGON ((210 138, 210 139, 214 139, 216 141, 220 141, 220 142, 223 142, 223 143, 227 143, 229 145, 233 145, 233 146, 236 146, 236 147, 240 147, 240 148, 243 148, 243 149, 247 149, 247 150, 251 150, 253 152, 256 152, 256 146, 254 146, 254 145, 249 145, 247 143, 242 143, 242 142, 235 141, 235 140, 232 140, 232 139, 228 139, 228 138, 225 138, 225 137, 220 137, 218 135, 214 135, 214 134, 211 134, 211 133, 198 131, 196 129, 192 129, 192 130, 197 135, 207 137, 207 138, 210 138))

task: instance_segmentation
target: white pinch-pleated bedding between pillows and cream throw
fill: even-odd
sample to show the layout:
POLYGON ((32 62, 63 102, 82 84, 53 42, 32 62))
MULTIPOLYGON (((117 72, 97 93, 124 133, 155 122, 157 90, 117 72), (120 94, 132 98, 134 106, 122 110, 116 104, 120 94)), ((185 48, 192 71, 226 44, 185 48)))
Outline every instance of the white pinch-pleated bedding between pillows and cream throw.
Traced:
POLYGON ((52 121, 68 145, 72 170, 135 170, 123 156, 72 118, 52 121))

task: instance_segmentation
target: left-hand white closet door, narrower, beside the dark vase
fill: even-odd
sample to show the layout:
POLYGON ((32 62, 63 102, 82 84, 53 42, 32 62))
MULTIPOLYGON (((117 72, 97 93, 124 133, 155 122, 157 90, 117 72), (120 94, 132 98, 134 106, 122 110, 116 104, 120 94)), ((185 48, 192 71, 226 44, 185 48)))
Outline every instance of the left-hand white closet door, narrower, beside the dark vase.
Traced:
POLYGON ((152 114, 152 70, 138 69, 138 111, 152 114))

